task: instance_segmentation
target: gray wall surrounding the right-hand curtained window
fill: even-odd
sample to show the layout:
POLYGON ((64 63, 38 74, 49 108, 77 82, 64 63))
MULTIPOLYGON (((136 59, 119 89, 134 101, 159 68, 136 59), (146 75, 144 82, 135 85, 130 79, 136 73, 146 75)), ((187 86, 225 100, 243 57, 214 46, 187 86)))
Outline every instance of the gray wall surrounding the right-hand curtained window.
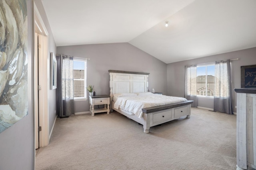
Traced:
MULTIPOLYGON (((241 87, 241 66, 256 64, 256 47, 233 51, 230 53, 223 53, 219 55, 212 55, 202 57, 199 59, 192 59, 180 61, 176 63, 167 64, 167 94, 170 96, 184 97, 185 94, 185 66, 191 64, 210 63, 214 61, 236 59, 232 61, 232 89, 241 87)), ((211 99, 200 98, 198 106, 213 108, 213 101, 211 99)), ((233 103, 236 106, 236 93, 233 91, 233 103)), ((236 112, 236 109, 233 108, 236 112)))

